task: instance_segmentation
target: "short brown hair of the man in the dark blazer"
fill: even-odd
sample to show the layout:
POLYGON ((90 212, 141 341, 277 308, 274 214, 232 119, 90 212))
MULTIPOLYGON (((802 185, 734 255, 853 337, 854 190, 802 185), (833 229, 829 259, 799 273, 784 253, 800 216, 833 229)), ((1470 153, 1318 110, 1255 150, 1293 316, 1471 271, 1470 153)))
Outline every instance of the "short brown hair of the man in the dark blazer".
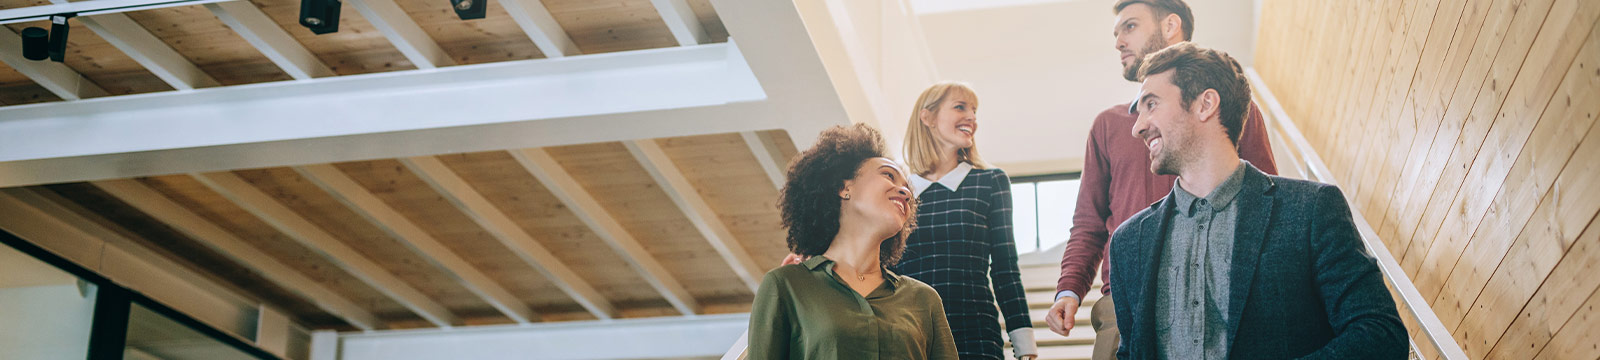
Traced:
POLYGON ((1224 51, 1181 42, 1146 56, 1139 82, 1166 70, 1174 70, 1173 85, 1182 90, 1184 109, 1189 109, 1200 93, 1216 90, 1218 117, 1227 130, 1227 139, 1237 146, 1238 134, 1245 130, 1245 114, 1250 110, 1250 80, 1245 78, 1245 67, 1224 51))

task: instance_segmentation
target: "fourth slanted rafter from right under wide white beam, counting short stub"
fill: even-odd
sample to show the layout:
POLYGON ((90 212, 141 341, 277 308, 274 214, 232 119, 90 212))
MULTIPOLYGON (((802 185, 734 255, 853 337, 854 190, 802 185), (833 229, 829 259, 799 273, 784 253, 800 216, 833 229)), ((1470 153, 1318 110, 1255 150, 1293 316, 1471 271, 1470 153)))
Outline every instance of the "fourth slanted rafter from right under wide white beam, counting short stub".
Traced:
POLYGON ((411 157, 400 158, 400 163, 450 200, 450 203, 456 205, 467 218, 472 218, 494 240, 499 240, 501 245, 506 245, 507 250, 528 262, 528 266, 544 274, 552 285, 566 293, 566 296, 571 296, 589 314, 602 320, 618 317, 616 307, 600 291, 590 286, 582 277, 578 277, 578 272, 562 262, 560 258, 555 258, 544 245, 539 245, 533 235, 528 235, 510 216, 494 208, 494 203, 490 203, 488 198, 474 190, 467 181, 461 179, 443 162, 435 157, 411 157))

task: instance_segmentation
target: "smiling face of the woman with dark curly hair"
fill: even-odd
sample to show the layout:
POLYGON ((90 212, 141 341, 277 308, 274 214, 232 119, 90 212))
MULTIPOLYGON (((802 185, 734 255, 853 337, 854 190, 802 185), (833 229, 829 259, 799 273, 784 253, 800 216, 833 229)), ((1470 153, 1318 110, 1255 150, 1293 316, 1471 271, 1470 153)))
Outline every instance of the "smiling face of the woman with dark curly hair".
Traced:
POLYGON ((845 181, 840 197, 843 216, 866 219, 883 237, 894 235, 910 221, 914 206, 906 170, 886 157, 867 158, 856 168, 856 178, 845 181))

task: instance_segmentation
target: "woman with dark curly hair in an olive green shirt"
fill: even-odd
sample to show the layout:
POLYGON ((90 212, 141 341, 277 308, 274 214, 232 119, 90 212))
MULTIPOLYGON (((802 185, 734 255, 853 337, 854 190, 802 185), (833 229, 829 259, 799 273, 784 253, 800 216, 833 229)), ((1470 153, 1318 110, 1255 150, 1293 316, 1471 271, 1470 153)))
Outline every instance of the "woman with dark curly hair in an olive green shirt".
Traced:
POLYGON ((749 358, 957 358, 939 294, 888 270, 915 226, 906 171, 867 125, 834 126, 789 165, 789 250, 750 309, 749 358))

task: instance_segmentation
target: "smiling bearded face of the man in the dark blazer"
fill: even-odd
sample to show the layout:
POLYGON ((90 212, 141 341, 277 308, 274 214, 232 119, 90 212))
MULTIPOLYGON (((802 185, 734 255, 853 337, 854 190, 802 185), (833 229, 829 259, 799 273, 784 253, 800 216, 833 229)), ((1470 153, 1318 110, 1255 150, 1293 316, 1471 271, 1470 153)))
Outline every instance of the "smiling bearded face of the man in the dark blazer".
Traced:
POLYGON ((1133 138, 1150 149, 1150 171, 1155 174, 1178 174, 1189 163, 1194 126, 1198 123, 1197 115, 1182 106, 1182 90, 1173 85, 1173 74, 1144 77, 1136 104, 1139 120, 1133 123, 1133 138))

